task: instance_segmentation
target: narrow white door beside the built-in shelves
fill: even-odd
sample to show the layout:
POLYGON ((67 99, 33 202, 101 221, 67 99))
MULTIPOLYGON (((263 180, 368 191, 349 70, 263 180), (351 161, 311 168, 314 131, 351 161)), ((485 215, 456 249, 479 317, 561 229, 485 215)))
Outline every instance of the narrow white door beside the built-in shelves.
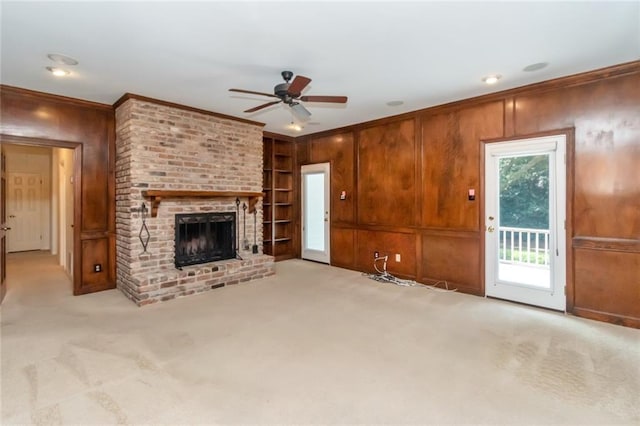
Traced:
POLYGON ((302 166, 302 258, 330 263, 329 163, 302 166))

